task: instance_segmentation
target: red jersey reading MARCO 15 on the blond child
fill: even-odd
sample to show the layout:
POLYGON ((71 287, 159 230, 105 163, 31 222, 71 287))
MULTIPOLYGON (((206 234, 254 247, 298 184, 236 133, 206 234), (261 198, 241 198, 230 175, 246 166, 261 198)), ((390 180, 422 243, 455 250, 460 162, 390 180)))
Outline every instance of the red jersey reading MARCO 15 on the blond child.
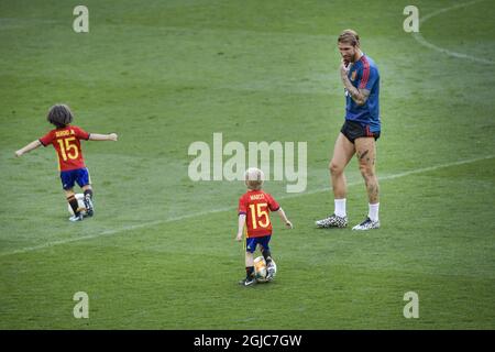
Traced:
POLYGON ((280 206, 263 190, 249 190, 239 199, 239 215, 245 213, 246 238, 261 238, 272 234, 270 211, 280 206))

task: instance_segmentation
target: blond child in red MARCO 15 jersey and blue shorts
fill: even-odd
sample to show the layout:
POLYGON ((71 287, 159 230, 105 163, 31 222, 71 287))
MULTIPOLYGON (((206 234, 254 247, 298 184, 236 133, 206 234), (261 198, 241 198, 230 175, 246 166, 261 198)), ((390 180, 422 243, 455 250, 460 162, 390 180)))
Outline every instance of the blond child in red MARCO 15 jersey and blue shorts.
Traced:
POLYGON ((272 263, 272 253, 270 252, 270 239, 272 238, 272 222, 270 221, 270 211, 276 211, 280 216, 288 229, 293 228, 292 222, 285 216, 284 210, 273 197, 262 190, 264 182, 263 172, 252 167, 245 172, 245 185, 248 191, 239 199, 239 230, 235 238, 242 241, 242 232, 245 226, 245 278, 239 284, 250 286, 256 282, 254 278, 254 251, 256 246, 266 261, 266 279, 273 279, 274 267, 272 263))

